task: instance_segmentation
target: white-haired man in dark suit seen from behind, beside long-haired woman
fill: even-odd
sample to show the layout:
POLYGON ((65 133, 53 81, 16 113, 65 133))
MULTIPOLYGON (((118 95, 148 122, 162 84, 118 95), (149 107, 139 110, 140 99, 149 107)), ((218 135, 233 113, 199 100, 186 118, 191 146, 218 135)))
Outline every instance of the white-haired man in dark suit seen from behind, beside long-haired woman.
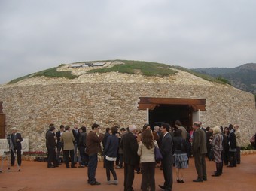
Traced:
POLYGON ((139 163, 138 143, 136 141, 136 126, 130 125, 129 132, 123 135, 120 148, 123 150, 124 161, 124 191, 133 190, 134 169, 139 163))

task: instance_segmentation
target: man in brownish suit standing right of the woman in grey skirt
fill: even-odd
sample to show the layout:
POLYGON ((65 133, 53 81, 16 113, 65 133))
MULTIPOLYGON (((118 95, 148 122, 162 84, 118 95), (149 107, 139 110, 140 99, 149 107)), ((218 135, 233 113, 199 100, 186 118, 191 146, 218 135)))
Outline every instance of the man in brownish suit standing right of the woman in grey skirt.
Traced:
POLYGON ((203 182, 207 180, 206 175, 206 133, 203 129, 200 129, 200 122, 193 124, 194 134, 192 143, 192 152, 194 156, 194 162, 197 169, 197 179, 193 182, 203 182))

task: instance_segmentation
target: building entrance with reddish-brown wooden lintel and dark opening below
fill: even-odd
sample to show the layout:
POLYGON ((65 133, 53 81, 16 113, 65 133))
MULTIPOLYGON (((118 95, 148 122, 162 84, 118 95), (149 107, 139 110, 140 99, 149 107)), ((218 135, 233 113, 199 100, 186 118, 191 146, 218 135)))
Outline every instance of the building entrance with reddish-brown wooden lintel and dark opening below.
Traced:
POLYGON ((148 110, 148 123, 151 127, 169 123, 174 126, 180 120, 186 127, 200 120, 200 111, 206 111, 206 99, 151 98, 140 97, 139 109, 148 110))

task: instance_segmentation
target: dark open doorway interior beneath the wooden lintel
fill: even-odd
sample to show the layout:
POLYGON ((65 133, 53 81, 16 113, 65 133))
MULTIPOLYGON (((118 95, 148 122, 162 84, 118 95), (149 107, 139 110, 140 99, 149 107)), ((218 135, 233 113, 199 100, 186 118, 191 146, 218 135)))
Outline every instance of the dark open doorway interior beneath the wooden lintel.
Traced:
POLYGON ((148 112, 151 127, 160 126, 164 122, 174 127, 175 120, 180 120, 185 127, 192 123, 192 110, 189 105, 159 105, 148 112))

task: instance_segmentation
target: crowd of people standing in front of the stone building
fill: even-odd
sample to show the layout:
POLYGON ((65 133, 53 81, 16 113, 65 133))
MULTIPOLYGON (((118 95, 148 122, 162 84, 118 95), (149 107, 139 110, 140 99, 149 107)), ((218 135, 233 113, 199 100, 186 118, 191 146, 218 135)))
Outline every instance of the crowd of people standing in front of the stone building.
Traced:
MULTIPOLYGON (((78 128, 78 124, 73 129, 61 125, 57 132, 54 124, 50 124, 45 135, 47 168, 59 167, 62 162, 66 164, 66 168, 87 167, 87 183, 100 185, 96 180, 96 168, 98 153, 102 153, 107 183, 117 185, 119 181, 115 170, 123 168, 124 190, 130 191, 133 190, 135 172, 142 173, 142 190, 155 190, 156 168, 163 170, 163 184, 158 186, 164 190, 172 190, 172 167, 175 167, 176 182, 184 183, 184 170, 188 168, 191 156, 194 157, 197 171, 194 182, 207 181, 206 158, 215 162, 213 177, 221 176, 224 165, 232 168, 240 164, 242 141, 239 125, 205 129, 201 122, 194 122, 190 129, 186 129, 179 120, 174 124, 171 127, 168 123, 163 123, 153 128, 145 124, 142 130, 135 125, 127 128, 113 126, 106 128, 105 133, 96 123, 88 133, 85 126, 78 128), (157 148, 162 155, 160 161, 155 158, 157 148), (60 157, 61 154, 63 158, 60 157)), ((13 129, 11 141, 14 141, 14 148, 17 149, 18 165, 21 165, 22 138, 17 129, 13 129)), ((11 165, 14 165, 13 153, 11 165)))

